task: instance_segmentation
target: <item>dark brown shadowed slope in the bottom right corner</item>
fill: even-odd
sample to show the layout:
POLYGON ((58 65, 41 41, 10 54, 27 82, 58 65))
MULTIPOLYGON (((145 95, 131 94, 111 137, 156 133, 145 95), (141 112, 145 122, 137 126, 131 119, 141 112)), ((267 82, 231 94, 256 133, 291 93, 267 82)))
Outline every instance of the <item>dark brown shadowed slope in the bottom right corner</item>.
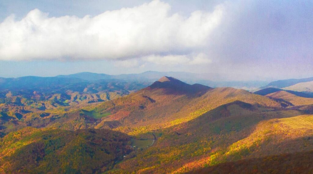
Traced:
POLYGON ((311 173, 313 151, 221 163, 190 173, 311 173))

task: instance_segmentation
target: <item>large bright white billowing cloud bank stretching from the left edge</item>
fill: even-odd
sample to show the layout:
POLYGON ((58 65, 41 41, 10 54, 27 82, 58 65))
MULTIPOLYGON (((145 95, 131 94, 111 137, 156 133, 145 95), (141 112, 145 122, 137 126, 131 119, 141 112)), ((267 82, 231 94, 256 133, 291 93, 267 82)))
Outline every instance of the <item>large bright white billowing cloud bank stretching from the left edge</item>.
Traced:
MULTIPOLYGON (((170 9, 169 4, 154 0, 94 17, 49 17, 38 9, 20 21, 11 15, 0 23, 0 60, 126 59, 165 54, 170 62, 186 63, 189 58, 171 53, 204 47, 222 20, 223 6, 216 6, 213 12, 195 11, 188 17, 170 14, 170 9)), ((194 63, 199 61, 203 60, 194 59, 194 63)))

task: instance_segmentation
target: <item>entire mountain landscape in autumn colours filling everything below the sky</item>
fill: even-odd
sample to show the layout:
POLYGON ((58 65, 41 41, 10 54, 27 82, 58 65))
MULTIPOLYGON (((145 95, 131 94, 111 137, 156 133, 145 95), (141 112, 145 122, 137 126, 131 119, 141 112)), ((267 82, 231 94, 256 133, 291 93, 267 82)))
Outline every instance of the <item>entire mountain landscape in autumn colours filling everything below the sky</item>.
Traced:
POLYGON ((21 79, 1 79, 1 172, 312 171, 310 92, 282 85, 252 93, 170 76, 155 82, 95 76, 38 78, 28 87, 17 85, 21 79), (78 101, 121 91, 125 95, 103 101, 78 101), (51 101, 59 104, 50 107, 51 101))

